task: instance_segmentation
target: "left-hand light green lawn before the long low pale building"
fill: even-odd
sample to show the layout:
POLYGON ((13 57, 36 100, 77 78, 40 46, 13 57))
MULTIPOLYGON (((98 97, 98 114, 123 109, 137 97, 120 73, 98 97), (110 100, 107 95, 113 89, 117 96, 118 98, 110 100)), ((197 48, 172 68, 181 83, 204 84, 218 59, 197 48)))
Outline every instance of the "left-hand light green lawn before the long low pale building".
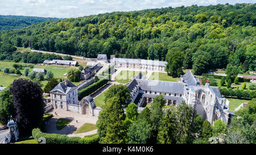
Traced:
MULTIPOLYGON (((117 76, 115 76, 115 81, 119 83, 128 83, 131 78, 133 78, 138 71, 122 70, 117 76)), ((146 76, 146 72, 141 72, 146 76)))

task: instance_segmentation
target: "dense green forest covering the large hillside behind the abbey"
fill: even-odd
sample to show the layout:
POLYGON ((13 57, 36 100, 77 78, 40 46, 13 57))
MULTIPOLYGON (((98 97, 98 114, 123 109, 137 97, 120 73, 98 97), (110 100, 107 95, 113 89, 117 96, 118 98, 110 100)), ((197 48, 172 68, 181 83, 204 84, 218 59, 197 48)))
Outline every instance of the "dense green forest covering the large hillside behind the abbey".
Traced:
POLYGON ((0 32, 0 51, 16 46, 85 57, 105 53, 172 61, 196 74, 228 64, 247 72, 256 69, 255 6, 192 5, 53 20, 0 32))

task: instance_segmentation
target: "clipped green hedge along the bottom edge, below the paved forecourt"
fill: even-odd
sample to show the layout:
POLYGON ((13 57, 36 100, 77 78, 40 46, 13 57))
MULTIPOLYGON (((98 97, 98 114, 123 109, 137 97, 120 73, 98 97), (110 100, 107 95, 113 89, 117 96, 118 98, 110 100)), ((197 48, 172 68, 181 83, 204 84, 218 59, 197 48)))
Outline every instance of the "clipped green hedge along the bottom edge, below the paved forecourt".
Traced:
POLYGON ((36 141, 38 141, 40 137, 44 137, 46 139, 46 144, 97 144, 100 140, 100 136, 98 135, 84 138, 68 137, 67 135, 56 133, 44 133, 40 131, 39 128, 32 130, 32 136, 36 141))

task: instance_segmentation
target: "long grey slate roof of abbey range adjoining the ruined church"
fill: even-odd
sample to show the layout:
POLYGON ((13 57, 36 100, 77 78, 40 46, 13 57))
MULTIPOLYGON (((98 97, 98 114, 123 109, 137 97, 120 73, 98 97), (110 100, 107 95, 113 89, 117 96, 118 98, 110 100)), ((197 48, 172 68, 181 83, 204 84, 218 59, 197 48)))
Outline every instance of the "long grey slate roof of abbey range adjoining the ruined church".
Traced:
POLYGON ((184 83, 136 79, 142 90, 184 94, 184 83))

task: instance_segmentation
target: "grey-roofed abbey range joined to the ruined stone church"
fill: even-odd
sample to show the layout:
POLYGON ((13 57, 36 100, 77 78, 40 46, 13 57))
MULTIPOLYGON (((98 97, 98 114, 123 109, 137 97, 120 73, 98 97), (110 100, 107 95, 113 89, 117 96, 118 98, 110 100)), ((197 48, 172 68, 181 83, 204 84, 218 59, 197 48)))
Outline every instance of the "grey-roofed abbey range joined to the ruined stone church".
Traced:
POLYGON ((156 95, 162 94, 166 105, 177 106, 184 100, 210 124, 216 119, 231 123, 233 112, 229 111, 229 101, 222 97, 218 87, 209 86, 209 83, 202 86, 201 80, 193 76, 190 70, 180 77, 179 82, 135 77, 127 85, 131 94, 130 102, 134 102, 138 107, 145 107, 156 95))

